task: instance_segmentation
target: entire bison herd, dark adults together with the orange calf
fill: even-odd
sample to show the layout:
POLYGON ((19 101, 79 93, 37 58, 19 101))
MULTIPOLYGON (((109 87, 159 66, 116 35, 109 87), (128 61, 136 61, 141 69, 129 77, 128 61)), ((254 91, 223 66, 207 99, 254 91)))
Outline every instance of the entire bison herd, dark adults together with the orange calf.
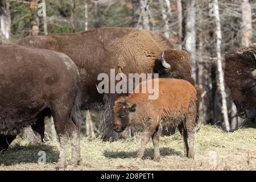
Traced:
MULTIPOLYGON (((256 46, 226 53, 225 60, 225 81, 239 114, 255 118, 256 46)), ((191 76, 189 53, 175 49, 157 32, 99 28, 0 43, 1 151, 26 126, 43 141, 44 117, 52 115, 60 142, 58 164, 67 166, 67 143, 71 139, 69 163, 77 165, 81 161, 80 109, 105 103, 103 140, 115 140, 127 126, 134 126, 143 130, 138 158, 143 157, 151 137, 154 160, 159 161, 159 127, 174 126, 184 140, 185 156, 194 158, 200 98, 201 90, 191 76), (97 76, 110 75, 110 69, 125 75, 158 73, 158 99, 148 100, 148 93, 98 93, 97 76)))

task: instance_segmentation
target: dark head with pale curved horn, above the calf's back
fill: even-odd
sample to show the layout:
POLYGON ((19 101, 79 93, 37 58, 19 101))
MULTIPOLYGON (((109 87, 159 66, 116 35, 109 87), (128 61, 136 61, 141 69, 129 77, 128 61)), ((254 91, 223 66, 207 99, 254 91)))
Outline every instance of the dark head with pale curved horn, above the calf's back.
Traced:
POLYGON ((168 49, 155 60, 153 71, 159 73, 159 77, 184 79, 195 85, 189 59, 189 53, 185 49, 168 49))

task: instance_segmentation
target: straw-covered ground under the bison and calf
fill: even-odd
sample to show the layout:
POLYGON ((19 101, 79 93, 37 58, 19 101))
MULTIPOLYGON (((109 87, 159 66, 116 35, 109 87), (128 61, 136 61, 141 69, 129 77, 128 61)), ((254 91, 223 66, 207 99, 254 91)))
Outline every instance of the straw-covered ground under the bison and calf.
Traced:
MULTIPOLYGON (((176 133, 160 137, 160 162, 152 161, 148 143, 143 160, 135 158, 139 138, 118 142, 81 138, 82 164, 67 170, 256 170, 256 128, 242 127, 226 133, 217 126, 198 125, 195 160, 183 156, 183 141, 176 133)), ((1 170, 55 170, 59 144, 30 145, 18 140, 0 154, 1 170), (46 164, 38 164, 39 151, 46 152, 46 164)), ((70 151, 69 156, 70 157, 70 151)))

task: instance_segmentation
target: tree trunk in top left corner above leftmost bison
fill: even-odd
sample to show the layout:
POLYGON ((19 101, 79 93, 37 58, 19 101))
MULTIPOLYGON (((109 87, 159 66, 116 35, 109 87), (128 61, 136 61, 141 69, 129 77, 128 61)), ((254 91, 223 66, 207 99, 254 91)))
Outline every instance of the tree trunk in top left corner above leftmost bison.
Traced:
POLYGON ((9 42, 11 36, 11 15, 9 0, 0 1, 0 42, 9 42))

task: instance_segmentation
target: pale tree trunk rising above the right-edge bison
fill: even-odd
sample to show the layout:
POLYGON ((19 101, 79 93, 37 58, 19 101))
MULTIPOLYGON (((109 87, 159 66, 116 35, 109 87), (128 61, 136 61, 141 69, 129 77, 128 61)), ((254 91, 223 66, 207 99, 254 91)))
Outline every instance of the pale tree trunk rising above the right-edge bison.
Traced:
POLYGON ((249 46, 253 35, 251 26, 251 5, 249 0, 243 0, 242 2, 242 30, 242 46, 249 46))

